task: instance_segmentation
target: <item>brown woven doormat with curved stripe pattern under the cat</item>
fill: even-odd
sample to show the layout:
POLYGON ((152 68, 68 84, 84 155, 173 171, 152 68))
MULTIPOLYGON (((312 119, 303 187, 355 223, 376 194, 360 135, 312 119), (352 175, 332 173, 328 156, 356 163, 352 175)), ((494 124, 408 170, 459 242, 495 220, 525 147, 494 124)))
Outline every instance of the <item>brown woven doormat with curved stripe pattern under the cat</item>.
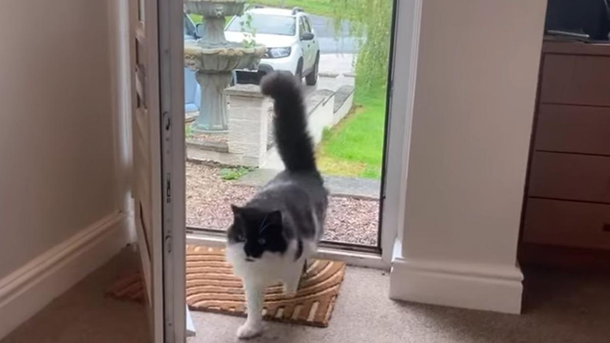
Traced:
MULTIPOLYGON (((233 275, 224 258, 224 248, 187 245, 187 304, 193 311, 246 316, 243 283, 233 275)), ((307 268, 295 297, 282 294, 280 284, 265 294, 265 319, 328 327, 345 263, 317 259, 307 268)), ((120 300, 143 301, 144 288, 139 273, 124 275, 106 292, 120 300)))

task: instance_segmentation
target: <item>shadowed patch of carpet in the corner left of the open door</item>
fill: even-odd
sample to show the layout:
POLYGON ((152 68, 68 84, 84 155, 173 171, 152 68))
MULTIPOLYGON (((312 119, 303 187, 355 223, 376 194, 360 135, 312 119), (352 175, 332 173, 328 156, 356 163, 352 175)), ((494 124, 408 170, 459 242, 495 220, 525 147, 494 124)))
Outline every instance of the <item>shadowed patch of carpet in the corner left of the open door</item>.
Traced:
MULTIPOLYGON (((104 296, 123 270, 138 269, 140 256, 126 248, 10 333, 2 343, 147 343, 145 307, 104 296)), ((0 313, 0 316, 10 316, 0 313)))

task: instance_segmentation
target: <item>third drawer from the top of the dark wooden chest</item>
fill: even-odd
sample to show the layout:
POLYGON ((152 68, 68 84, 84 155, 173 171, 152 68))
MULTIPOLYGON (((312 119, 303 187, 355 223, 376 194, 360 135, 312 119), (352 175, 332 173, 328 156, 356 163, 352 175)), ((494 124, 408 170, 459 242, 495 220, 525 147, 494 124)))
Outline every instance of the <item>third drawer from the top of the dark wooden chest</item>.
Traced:
POLYGON ((528 195, 610 203, 610 157, 536 151, 528 195))

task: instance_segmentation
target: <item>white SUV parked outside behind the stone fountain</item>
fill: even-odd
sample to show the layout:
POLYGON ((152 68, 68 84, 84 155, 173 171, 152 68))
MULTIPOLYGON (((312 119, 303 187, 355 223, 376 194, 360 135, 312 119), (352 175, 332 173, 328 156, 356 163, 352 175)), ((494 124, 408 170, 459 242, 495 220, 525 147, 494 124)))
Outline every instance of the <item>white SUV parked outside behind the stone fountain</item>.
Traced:
MULTIPOLYGON (((236 71, 237 82, 257 83, 273 70, 290 71, 299 79, 305 77, 307 85, 318 81, 320 44, 316 40, 314 27, 303 10, 254 8, 242 16, 234 16, 224 29, 227 40, 242 42, 245 34, 240 22, 251 16, 251 29, 256 32, 256 43, 267 47, 257 70, 236 71)), ((249 31, 248 27, 243 27, 249 31)))

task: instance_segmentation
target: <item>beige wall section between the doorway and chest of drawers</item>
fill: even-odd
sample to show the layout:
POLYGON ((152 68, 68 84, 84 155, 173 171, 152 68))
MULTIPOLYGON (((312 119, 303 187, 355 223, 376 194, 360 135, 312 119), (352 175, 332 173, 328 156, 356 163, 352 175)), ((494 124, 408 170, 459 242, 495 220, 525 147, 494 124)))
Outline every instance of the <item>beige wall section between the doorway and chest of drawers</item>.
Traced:
POLYGON ((545 0, 425 0, 407 259, 514 265, 545 0))

